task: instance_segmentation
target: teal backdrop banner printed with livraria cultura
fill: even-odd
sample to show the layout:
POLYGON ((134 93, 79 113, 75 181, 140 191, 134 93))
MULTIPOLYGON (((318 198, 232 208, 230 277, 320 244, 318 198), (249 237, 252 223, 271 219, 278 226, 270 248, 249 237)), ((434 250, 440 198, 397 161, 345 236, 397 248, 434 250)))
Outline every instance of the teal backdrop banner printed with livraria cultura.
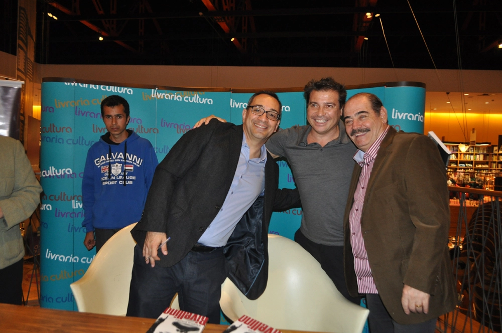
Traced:
MULTIPOLYGON (((387 86, 375 84, 348 88, 349 96, 362 91, 378 95, 388 109, 389 122, 397 129, 423 132, 425 86, 407 86, 398 82, 387 86)), ((279 130, 307 123, 305 100, 299 90, 278 92, 283 103, 279 130)), ((129 87, 117 83, 44 79, 40 153, 44 189, 41 210, 42 307, 77 310, 70 283, 85 273, 95 256, 95 249, 87 251, 83 245, 86 230, 81 226, 84 214, 81 183, 87 150, 106 133, 101 119, 101 101, 113 94, 126 98, 131 109, 128 128, 150 140, 161 161, 176 141, 202 117, 214 114, 241 124, 242 109, 253 92, 249 89, 129 87)), ((279 159, 277 163, 279 186, 294 188, 294 175, 287 161, 279 159)), ((301 209, 274 213, 269 232, 293 239, 302 214, 301 209)))

